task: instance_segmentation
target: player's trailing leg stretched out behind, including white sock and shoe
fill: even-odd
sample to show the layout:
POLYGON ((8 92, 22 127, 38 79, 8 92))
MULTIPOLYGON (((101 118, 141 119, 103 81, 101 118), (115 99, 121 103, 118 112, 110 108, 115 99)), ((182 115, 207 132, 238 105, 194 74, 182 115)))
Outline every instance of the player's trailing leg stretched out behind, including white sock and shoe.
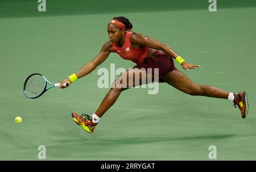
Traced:
POLYGON ((236 94, 229 93, 228 91, 209 85, 199 85, 191 81, 191 79, 189 79, 184 73, 180 72, 180 70, 169 72, 164 75, 163 79, 169 85, 190 95, 201 95, 212 98, 233 100, 235 107, 238 106, 240 108, 242 118, 245 118, 248 114, 249 104, 245 91, 241 91, 241 93, 236 94))

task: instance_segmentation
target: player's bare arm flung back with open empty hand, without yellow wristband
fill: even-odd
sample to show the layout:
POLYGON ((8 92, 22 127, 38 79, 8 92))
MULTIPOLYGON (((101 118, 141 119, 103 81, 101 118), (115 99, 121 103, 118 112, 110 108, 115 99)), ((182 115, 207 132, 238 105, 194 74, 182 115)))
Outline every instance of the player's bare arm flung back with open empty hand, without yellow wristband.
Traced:
MULTIPOLYGON (((170 47, 168 47, 168 45, 163 44, 160 41, 157 41, 155 39, 152 39, 152 37, 135 33, 135 34, 131 34, 130 41, 132 44, 143 45, 153 49, 159 49, 169 54, 172 58, 176 59, 178 57, 178 55, 170 47)), ((200 68, 200 65, 192 65, 186 61, 182 62, 181 66, 185 70, 200 68)))

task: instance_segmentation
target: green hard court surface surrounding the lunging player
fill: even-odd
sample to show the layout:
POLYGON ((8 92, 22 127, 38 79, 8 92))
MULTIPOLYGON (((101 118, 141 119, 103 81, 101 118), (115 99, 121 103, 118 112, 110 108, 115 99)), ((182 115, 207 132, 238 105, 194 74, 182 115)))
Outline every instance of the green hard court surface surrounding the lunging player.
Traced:
POLYGON ((47 1, 46 12, 37 1, 0 2, 0 160, 39 160, 40 145, 46 160, 210 160, 210 145, 216 160, 256 160, 256 3, 217 1, 217 11, 209 12, 208 1, 131 2, 47 1), (91 135, 71 112, 92 115, 108 93, 97 86, 99 68, 134 66, 116 53, 68 89, 24 97, 31 73, 60 82, 92 60, 109 40, 114 16, 126 16, 133 31, 201 65, 186 72, 175 62, 192 81, 246 91, 247 118, 229 100, 192 97, 160 83, 154 95, 123 91, 91 135))

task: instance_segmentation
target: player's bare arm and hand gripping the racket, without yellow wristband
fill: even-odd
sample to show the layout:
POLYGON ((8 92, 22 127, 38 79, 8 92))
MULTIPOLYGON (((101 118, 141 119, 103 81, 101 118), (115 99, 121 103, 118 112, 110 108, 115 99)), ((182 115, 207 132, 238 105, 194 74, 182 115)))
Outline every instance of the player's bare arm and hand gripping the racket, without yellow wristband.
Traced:
MULTIPOLYGON (((94 57, 92 61, 82 66, 82 68, 76 73, 77 78, 84 77, 85 75, 88 75, 89 73, 91 73, 94 69, 97 68, 98 65, 102 64, 102 62, 104 62, 106 58, 108 58, 110 52, 113 52, 112 42, 108 41, 102 46, 100 53, 98 53, 97 56, 94 57)), ((64 86, 65 83, 68 83, 69 85, 71 84, 71 81, 69 80, 69 78, 66 78, 60 82, 61 89, 65 88, 64 86)))

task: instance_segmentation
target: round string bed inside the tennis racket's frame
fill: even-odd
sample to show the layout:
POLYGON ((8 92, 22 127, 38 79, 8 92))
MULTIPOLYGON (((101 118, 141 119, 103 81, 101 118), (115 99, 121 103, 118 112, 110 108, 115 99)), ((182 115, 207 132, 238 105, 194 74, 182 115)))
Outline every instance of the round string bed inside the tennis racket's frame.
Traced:
POLYGON ((35 98, 43 93, 46 81, 41 75, 32 75, 28 78, 24 93, 27 97, 35 98))

